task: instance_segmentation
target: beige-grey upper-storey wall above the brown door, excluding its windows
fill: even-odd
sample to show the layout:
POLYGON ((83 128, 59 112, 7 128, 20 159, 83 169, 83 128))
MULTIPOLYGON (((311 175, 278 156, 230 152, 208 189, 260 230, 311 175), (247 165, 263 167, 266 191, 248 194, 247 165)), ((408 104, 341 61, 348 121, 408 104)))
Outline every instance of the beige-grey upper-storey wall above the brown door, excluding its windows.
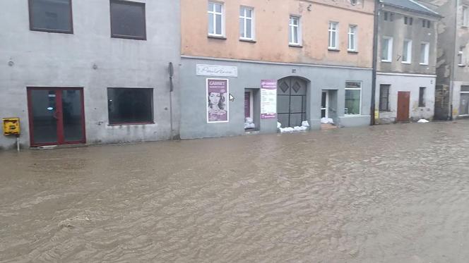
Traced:
POLYGON ((399 8, 385 6, 379 16, 378 71, 393 73, 435 74, 437 65, 437 21, 432 16, 412 13, 399 8), (393 13, 393 21, 384 20, 384 12, 393 13), (405 25, 404 17, 413 18, 412 25, 405 25), (422 19, 431 20, 431 27, 422 27, 422 19), (393 55, 391 62, 381 61, 382 39, 393 37, 393 55), (411 63, 403 63, 403 43, 412 40, 411 63), (429 42, 429 64, 420 65, 420 44, 429 42))

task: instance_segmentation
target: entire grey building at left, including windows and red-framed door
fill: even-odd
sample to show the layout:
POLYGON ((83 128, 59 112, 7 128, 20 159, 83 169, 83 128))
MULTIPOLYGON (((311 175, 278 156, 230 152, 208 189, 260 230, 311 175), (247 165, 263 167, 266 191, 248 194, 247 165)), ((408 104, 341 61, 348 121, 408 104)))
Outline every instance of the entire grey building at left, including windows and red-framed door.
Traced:
MULTIPOLYGON (((179 83, 170 92, 168 65, 177 76, 179 1, 1 1, 0 9, 0 118, 20 118, 23 147, 177 136, 179 83)), ((14 144, 0 137, 1 148, 14 144)))

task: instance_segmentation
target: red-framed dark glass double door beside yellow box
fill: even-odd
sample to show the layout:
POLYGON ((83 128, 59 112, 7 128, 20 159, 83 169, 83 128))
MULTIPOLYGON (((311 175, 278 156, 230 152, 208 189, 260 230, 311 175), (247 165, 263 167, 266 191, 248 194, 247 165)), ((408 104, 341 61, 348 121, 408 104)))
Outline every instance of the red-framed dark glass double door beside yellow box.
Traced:
POLYGON ((83 88, 28 87, 30 144, 85 143, 83 88))

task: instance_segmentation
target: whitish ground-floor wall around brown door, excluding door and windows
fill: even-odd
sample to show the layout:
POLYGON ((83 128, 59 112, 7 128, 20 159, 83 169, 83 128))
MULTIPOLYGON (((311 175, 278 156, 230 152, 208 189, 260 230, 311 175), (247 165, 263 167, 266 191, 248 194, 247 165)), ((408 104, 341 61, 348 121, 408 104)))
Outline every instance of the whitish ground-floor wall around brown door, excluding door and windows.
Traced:
POLYGON ((421 118, 432 120, 434 115, 434 94, 436 76, 431 75, 386 75, 376 76, 376 109, 379 109, 380 85, 391 85, 389 88, 390 111, 379 112, 379 123, 393 123, 397 117, 398 92, 410 92, 410 113, 412 121, 421 118), (420 87, 426 87, 425 107, 419 107, 420 87))

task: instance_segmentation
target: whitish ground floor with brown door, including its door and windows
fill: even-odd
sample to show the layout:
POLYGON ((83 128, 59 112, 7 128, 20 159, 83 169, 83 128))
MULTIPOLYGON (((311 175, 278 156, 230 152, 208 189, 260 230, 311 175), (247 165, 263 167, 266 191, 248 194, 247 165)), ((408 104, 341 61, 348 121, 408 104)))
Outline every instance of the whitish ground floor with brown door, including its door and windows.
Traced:
POLYGON ((435 75, 378 73, 376 110, 378 123, 429 121, 434 117, 435 75))

